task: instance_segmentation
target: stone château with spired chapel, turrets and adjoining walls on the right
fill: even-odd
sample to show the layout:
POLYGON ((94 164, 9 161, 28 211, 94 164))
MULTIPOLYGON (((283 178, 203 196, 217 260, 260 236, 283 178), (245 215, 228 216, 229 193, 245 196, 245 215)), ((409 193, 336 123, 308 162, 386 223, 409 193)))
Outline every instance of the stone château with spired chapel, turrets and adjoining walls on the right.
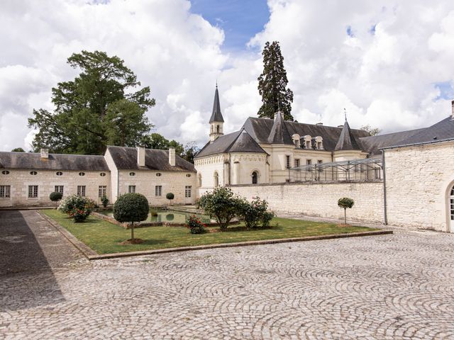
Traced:
POLYGON ((428 128, 370 136, 338 127, 248 118, 223 135, 218 89, 210 139, 195 157, 199 195, 230 186, 266 199, 276 212, 454 232, 454 101, 451 115, 428 128))

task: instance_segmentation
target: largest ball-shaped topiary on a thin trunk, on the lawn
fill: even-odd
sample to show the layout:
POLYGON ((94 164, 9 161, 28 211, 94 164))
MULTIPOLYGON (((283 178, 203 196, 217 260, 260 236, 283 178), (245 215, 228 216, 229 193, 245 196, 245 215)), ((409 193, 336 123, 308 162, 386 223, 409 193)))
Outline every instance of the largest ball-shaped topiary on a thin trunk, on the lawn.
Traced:
POLYGON ((118 196, 114 204, 114 218, 118 222, 127 222, 131 226, 130 243, 141 243, 134 239, 134 222, 145 221, 148 217, 148 200, 140 193, 125 193, 118 196))

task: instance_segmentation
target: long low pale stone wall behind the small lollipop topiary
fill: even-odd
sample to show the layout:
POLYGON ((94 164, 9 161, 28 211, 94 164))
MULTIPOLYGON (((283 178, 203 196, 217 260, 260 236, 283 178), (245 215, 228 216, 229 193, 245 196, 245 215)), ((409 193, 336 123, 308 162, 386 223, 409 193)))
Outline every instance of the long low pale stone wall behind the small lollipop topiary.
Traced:
MULTIPOLYGON (((258 196, 275 212, 327 218, 343 218, 338 199, 355 200, 348 209, 350 220, 383 223, 383 182, 311 182, 231 186, 234 193, 251 200, 258 196)), ((201 193, 202 194, 202 193, 201 193)))

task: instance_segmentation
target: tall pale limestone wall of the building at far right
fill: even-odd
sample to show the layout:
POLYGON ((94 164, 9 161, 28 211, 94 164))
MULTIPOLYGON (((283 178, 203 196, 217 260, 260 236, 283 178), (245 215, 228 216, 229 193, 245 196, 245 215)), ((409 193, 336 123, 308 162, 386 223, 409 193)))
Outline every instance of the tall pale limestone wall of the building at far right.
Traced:
POLYGON ((384 155, 389 224, 448 231, 454 142, 387 149, 384 155))

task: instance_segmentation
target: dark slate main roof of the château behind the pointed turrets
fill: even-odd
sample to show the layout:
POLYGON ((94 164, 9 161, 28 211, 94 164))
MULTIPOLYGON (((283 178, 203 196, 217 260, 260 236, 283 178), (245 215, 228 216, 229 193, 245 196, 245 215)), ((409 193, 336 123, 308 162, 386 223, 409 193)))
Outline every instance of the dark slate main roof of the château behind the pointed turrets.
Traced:
MULTIPOLYGON (((243 128, 253 139, 260 144, 270 144, 268 137, 272 130, 274 121, 270 118, 250 117, 245 121, 243 128)), ((341 136, 342 128, 326 125, 314 125, 305 123, 295 123, 284 120, 285 128, 290 136, 297 133, 301 137, 310 135, 311 137, 321 136, 323 138, 323 149, 333 151, 341 136)), ((358 140, 360 137, 367 137, 369 133, 364 130, 350 129, 351 133, 358 140)), ((292 143, 293 144, 293 143, 292 143)))

